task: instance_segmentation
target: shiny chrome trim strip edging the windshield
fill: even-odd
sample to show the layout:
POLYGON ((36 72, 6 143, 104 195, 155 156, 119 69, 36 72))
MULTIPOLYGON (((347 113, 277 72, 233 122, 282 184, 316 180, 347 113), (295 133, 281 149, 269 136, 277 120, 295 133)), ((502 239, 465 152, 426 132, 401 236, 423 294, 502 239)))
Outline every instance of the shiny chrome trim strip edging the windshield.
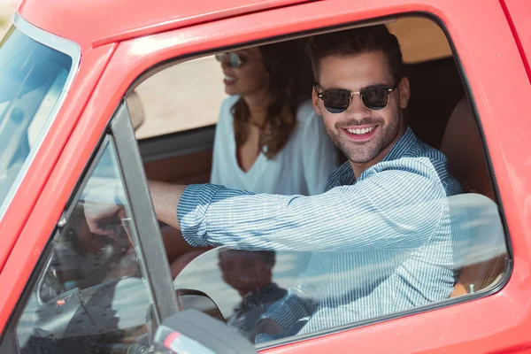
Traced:
POLYGON ((29 169, 29 166, 33 163, 37 151, 41 149, 44 138, 50 132, 50 127, 54 122, 59 109, 65 102, 66 94, 72 86, 73 79, 75 78, 75 75, 78 72, 81 62, 81 48, 77 43, 59 37, 58 35, 52 35, 39 27, 35 27, 31 23, 27 22, 27 20, 22 19, 19 13, 15 13, 13 15, 13 24, 21 33, 27 35, 35 42, 40 42, 41 44, 50 47, 53 50, 58 50, 68 55, 70 58, 72 58, 72 67, 70 68, 70 73, 68 73, 68 77, 66 78, 65 87, 61 91, 61 94, 58 96, 58 101, 52 108, 50 115, 44 122, 44 125, 41 129, 41 133, 39 134, 35 142, 34 148, 30 151, 29 155, 27 155, 26 161, 24 162, 24 165, 22 165, 22 168, 20 168, 17 178, 15 179, 15 181, 13 181, 11 189, 9 190, 9 192, 5 196, 4 201, 0 205, 0 222, 2 222, 2 220, 4 219, 4 215, 7 211, 8 206, 11 204, 13 197, 20 188, 20 184, 26 177, 27 170, 29 169))

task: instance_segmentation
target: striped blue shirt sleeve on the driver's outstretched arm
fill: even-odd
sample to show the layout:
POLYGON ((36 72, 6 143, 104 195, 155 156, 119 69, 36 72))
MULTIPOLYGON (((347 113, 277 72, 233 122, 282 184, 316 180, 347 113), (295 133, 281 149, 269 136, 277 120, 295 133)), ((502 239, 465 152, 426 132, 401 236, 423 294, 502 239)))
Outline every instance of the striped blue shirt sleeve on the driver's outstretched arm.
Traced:
MULTIPOLYGON (((242 250, 407 250, 434 234, 448 201, 427 158, 401 158, 318 196, 254 195, 190 185, 177 210, 194 246, 242 250)), ((375 167, 375 166, 373 166, 375 167)))

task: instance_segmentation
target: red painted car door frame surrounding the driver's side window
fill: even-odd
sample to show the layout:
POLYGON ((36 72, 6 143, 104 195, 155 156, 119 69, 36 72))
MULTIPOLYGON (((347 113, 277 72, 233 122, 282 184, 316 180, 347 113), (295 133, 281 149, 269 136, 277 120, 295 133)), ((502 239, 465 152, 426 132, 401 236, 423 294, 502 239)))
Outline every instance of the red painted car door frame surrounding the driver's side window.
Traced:
MULTIPOLYGON (((88 158, 104 134, 106 119, 119 106, 127 89, 142 73, 165 60, 195 58, 242 43, 260 43, 286 35, 381 22, 411 14, 434 19, 443 27, 453 47, 473 111, 480 122, 481 138, 486 143, 489 166, 494 171, 496 196, 502 207, 504 225, 511 235, 509 245, 515 262, 509 264, 504 280, 491 291, 448 299, 412 312, 287 338, 261 347, 265 352, 518 352, 528 348, 527 331, 522 329, 531 318, 526 285, 531 240, 527 226, 531 221, 524 196, 531 192, 531 185, 527 183, 531 171, 522 161, 527 158, 525 151, 531 148, 527 136, 531 122, 521 117, 526 116, 524 103, 531 88, 511 27, 499 3, 494 0, 466 4, 439 0, 420 3, 381 0, 377 4, 369 0, 312 2, 120 42, 106 74, 90 98, 91 110, 83 113, 73 132, 72 139, 85 136, 81 158, 88 158), (471 9, 481 9, 482 15, 476 16, 471 9)), ((79 165, 67 171, 76 148, 73 142, 65 147, 64 158, 56 167, 58 171, 69 175, 81 173, 79 165)), ((51 181, 57 185, 61 178, 60 174, 55 174, 51 181)), ((63 188, 72 189, 72 182, 63 188)), ((45 202, 39 201, 40 205, 45 202)))

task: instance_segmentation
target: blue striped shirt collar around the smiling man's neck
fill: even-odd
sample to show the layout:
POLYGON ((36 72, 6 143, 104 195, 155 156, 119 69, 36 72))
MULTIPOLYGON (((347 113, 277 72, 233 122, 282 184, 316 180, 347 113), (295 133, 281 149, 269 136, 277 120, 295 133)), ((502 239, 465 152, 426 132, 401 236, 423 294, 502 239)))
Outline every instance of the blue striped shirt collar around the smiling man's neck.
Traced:
MULTIPOLYGON (((419 142, 419 138, 413 133, 411 127, 406 127, 404 135, 398 139, 396 144, 389 150, 386 156, 381 159, 381 162, 391 161, 404 156, 404 153, 419 142)), ((327 178, 327 190, 339 186, 345 186, 356 183, 354 171, 347 161, 337 167, 327 178)))

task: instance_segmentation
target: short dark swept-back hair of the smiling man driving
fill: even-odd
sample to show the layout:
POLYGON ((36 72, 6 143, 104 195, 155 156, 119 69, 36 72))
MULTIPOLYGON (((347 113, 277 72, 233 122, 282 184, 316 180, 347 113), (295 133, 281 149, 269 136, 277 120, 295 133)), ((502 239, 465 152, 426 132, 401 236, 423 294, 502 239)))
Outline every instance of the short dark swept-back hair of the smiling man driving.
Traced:
POLYGON ((399 81, 404 74, 402 51, 396 36, 391 35, 385 25, 314 35, 310 37, 306 46, 316 80, 319 78, 319 64, 323 58, 329 56, 349 58, 380 50, 387 59, 393 79, 399 81))

